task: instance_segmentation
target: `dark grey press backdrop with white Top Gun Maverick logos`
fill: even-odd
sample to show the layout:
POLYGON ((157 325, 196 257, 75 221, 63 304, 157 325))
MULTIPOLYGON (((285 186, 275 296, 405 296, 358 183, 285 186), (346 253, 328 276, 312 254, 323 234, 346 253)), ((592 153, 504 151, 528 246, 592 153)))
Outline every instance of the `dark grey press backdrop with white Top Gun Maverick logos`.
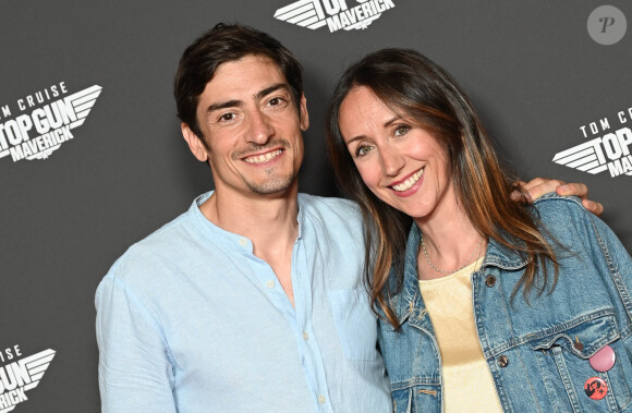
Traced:
POLYGON ((98 282, 212 189, 180 134, 172 81, 216 23, 267 32, 303 63, 303 192, 338 195, 324 145, 337 76, 408 47, 460 82, 521 177, 586 183, 630 250, 625 17, 624 0, 0 1, 0 412, 99 411, 98 282))

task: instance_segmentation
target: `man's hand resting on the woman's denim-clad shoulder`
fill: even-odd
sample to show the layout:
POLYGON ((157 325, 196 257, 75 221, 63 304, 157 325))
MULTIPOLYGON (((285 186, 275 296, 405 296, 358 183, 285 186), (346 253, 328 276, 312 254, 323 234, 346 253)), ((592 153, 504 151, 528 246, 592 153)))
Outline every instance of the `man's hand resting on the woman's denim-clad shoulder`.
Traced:
POLYGON ((511 198, 514 201, 532 203, 548 192, 556 192, 558 195, 579 196, 582 198, 584 208, 597 217, 604 212, 604 206, 600 203, 588 199, 588 187, 583 183, 566 183, 560 180, 535 178, 530 182, 520 181, 518 184, 522 186, 522 191, 516 190, 511 193, 511 198))

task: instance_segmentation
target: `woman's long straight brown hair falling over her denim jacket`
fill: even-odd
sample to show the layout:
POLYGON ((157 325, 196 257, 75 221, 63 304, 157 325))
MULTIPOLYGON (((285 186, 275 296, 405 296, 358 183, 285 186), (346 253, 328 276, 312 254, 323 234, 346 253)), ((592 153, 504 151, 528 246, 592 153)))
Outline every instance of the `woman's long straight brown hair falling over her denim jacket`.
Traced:
POLYGON ((558 278, 556 255, 537 227, 530 208, 509 194, 514 180, 502 170, 478 116, 457 82, 432 60, 409 49, 382 49, 366 56, 342 75, 327 114, 327 143, 341 189, 360 204, 366 252, 365 276, 372 304, 399 328, 390 305, 403 283, 403 257, 412 220, 375 196, 364 184, 340 132, 340 106, 347 95, 366 86, 393 112, 438 138, 451 159, 451 178, 458 202, 476 230, 527 259, 525 271, 513 290, 524 287, 525 300, 536 288, 547 286, 545 262, 555 268, 551 289, 558 278), (373 262, 375 259, 375 262, 373 262), (373 264, 373 265, 372 265, 373 264), (535 284, 537 268, 544 279, 535 284), (392 270, 394 277, 388 282, 392 270))

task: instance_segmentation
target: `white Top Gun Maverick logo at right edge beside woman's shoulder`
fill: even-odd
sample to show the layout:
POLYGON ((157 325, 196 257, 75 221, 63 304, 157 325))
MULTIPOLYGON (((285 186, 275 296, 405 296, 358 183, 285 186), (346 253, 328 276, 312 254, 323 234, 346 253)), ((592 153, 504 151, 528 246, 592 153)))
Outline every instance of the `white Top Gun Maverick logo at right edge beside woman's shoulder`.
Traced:
MULTIPOLYGON (((621 124, 632 123, 632 108, 617 112, 617 120, 621 124)), ((607 170, 612 178, 621 174, 632 175, 632 155, 630 155, 632 131, 630 127, 623 126, 611 131, 610 121, 608 118, 603 118, 599 119, 599 123, 591 122, 588 130, 585 125, 580 130, 584 137, 588 137, 588 132, 592 135, 606 133, 556 154, 554 162, 593 174, 607 170)))

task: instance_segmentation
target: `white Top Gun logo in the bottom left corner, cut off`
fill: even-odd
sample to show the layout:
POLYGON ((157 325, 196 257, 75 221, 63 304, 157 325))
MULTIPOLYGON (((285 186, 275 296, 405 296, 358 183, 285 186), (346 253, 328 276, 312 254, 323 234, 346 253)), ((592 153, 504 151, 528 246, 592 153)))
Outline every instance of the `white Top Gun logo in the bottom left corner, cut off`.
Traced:
MULTIPOLYGON (((0 362, 21 356, 19 345, 0 351, 0 362)), ((39 353, 0 366, 0 413, 10 412, 16 404, 28 400, 25 391, 34 389, 54 357, 54 350, 39 353)))

